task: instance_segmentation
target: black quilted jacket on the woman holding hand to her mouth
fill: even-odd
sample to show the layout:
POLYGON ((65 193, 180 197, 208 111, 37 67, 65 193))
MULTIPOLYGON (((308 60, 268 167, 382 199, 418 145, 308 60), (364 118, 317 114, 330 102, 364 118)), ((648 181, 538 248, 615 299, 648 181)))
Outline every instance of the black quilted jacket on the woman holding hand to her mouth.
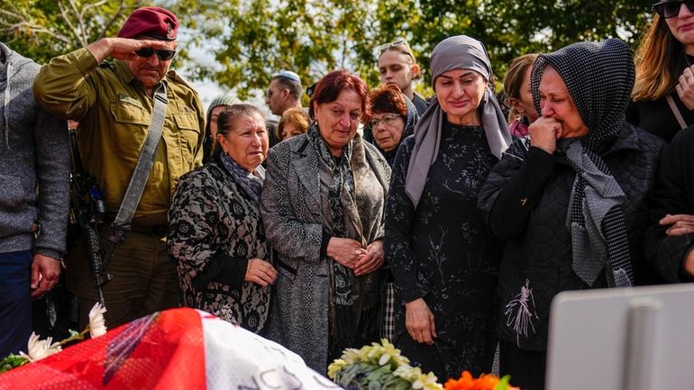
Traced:
MULTIPOLYGON (((644 265, 645 197, 653 186, 662 141, 625 122, 602 154, 628 201, 624 210, 636 284, 652 277, 644 265)), ((507 240, 499 270, 499 337, 521 349, 546 349, 552 298, 564 290, 607 287, 603 271, 593 286, 571 268, 567 209, 575 171, 557 152, 516 140, 479 193, 491 230, 507 240)))

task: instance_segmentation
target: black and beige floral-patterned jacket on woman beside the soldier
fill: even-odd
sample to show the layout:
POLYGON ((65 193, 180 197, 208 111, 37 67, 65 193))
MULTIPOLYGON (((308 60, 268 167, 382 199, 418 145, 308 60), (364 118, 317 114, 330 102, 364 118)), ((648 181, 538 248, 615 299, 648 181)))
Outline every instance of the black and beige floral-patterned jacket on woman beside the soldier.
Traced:
POLYGON ((183 304, 260 332, 270 286, 244 281, 249 258, 272 262, 259 204, 215 161, 181 177, 169 210, 169 254, 176 259, 183 304), (217 263, 218 262, 218 263, 217 263), (221 268, 205 286, 210 266, 221 268), (197 288, 196 288, 197 287, 197 288))

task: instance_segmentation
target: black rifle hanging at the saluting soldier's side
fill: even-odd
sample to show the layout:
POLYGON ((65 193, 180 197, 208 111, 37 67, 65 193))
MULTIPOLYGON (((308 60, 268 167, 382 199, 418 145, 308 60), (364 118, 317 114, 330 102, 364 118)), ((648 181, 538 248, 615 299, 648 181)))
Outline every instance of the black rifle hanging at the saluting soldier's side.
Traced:
POLYGON ((106 273, 104 250, 101 246, 98 226, 103 221, 106 212, 101 191, 96 186, 96 179, 85 172, 82 160, 79 156, 77 134, 75 126, 68 125, 70 156, 72 168, 70 169, 70 182, 74 188, 72 207, 70 210, 70 222, 78 224, 85 244, 89 273, 94 278, 99 304, 105 305, 104 285, 113 276, 106 273))

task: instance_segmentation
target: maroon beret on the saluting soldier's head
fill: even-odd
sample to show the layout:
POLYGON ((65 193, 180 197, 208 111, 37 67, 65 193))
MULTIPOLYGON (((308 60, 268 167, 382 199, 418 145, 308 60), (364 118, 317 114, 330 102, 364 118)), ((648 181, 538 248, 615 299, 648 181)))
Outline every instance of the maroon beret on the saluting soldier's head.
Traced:
POLYGON ((119 38, 136 38, 141 35, 160 41, 173 41, 178 32, 178 19, 169 10, 160 7, 138 8, 123 23, 119 38))

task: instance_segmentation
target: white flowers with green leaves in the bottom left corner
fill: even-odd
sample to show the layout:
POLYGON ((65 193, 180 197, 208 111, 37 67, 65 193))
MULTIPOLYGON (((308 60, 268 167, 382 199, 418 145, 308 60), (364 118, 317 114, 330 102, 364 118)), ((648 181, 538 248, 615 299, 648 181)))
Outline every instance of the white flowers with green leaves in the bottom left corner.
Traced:
POLYGON ((89 311, 89 323, 87 324, 87 328, 79 333, 77 331, 69 331, 70 337, 59 342, 52 342, 53 339, 50 337, 46 340, 40 340, 39 335, 32 332, 32 336, 29 337, 29 342, 27 342, 26 353, 21 351, 19 355, 10 354, 10 356, 0 360, 0 373, 58 353, 62 350, 62 346, 68 342, 84 340, 87 331, 92 339, 105 335, 106 325, 104 313, 106 313, 105 307, 96 303, 89 311))

